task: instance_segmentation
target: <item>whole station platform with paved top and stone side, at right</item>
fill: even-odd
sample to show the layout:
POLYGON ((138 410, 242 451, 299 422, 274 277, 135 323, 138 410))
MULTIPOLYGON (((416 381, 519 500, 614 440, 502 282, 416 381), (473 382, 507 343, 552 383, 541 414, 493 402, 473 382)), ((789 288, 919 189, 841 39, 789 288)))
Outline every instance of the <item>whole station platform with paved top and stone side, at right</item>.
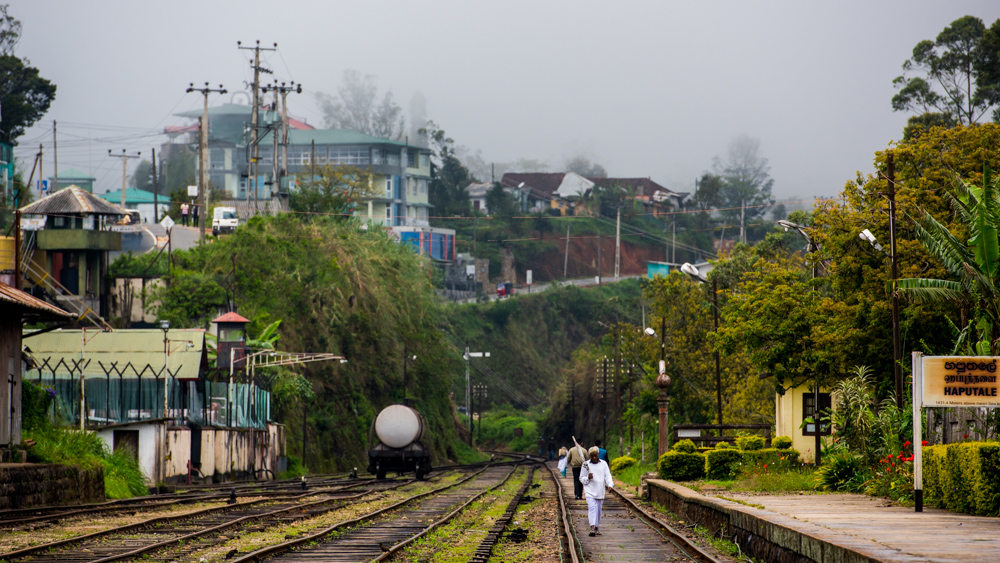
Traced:
POLYGON ((647 486, 652 501, 767 561, 1000 561, 1000 518, 914 512, 864 495, 719 492, 733 502, 659 479, 647 486))

